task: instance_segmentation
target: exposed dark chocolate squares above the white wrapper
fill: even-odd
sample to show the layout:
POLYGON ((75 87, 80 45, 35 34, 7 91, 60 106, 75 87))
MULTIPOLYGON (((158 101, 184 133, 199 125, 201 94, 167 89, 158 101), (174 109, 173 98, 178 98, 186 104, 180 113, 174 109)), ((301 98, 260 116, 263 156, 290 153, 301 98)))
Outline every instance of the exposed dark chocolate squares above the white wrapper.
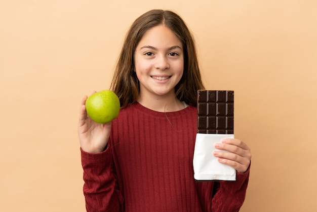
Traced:
POLYGON ((233 91, 197 90, 197 133, 233 134, 233 91))

